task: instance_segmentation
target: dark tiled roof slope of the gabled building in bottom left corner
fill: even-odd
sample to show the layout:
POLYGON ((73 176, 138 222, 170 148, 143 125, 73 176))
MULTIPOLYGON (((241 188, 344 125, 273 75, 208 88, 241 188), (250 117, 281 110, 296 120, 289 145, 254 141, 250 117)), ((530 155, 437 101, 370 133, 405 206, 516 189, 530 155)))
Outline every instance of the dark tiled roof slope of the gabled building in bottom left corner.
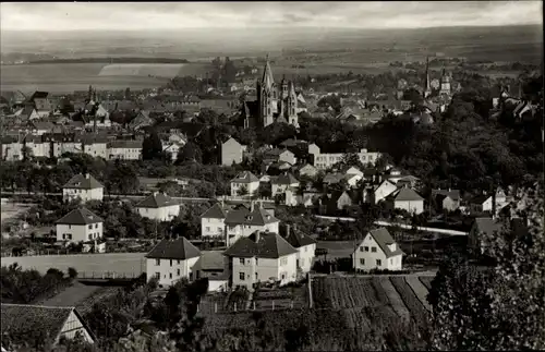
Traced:
MULTIPOLYGON (((56 339, 74 307, 49 307, 27 304, 1 304, 2 336, 12 336, 15 343, 26 336, 49 336, 56 339), (17 338, 21 339, 17 341, 17 338)), ((76 311, 75 314, 78 316, 76 311)), ((90 331, 89 331, 90 333, 90 331)))

